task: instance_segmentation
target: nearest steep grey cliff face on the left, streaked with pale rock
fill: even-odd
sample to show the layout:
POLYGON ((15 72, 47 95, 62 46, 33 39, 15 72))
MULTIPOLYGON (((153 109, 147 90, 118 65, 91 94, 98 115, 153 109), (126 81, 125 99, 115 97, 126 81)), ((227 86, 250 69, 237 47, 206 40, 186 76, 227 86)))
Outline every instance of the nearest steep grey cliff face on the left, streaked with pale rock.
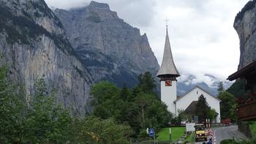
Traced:
POLYGON ((73 115, 85 115, 91 76, 45 1, 1 0, 0 19, 1 64, 10 65, 10 77, 24 86, 27 99, 35 80, 44 77, 49 90, 58 89, 56 102, 70 107, 73 115))

